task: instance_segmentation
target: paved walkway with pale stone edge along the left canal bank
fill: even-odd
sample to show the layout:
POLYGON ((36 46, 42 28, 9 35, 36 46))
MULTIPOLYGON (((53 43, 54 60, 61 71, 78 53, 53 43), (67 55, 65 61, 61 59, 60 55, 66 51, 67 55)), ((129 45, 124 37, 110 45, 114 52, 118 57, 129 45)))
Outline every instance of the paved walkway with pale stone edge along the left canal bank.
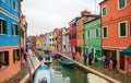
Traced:
POLYGON ((26 80, 29 78, 28 66, 29 66, 29 71, 32 72, 32 74, 40 66, 39 60, 35 57, 35 54, 29 49, 28 49, 27 61, 25 61, 21 71, 19 71, 14 76, 10 78, 9 80, 5 80, 2 83, 25 83, 26 80), (34 67, 32 66, 32 62, 34 67))

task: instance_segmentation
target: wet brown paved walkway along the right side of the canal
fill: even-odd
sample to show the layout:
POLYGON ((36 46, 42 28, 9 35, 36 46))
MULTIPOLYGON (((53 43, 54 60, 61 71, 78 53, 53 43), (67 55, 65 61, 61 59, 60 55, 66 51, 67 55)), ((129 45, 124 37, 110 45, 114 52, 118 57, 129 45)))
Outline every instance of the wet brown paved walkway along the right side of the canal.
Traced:
MULTIPOLYGON (((63 55, 72 58, 70 56, 70 54, 63 54, 63 55)), ((84 61, 80 57, 76 57, 75 61, 84 64, 84 61)), ((88 67, 88 64, 84 64, 84 66, 88 67)), ((108 75, 108 76, 110 76, 112 79, 116 79, 116 80, 120 81, 121 83, 131 83, 131 75, 127 75, 127 74, 120 73, 119 71, 112 71, 112 70, 109 71, 107 69, 104 69, 98 63, 93 63, 93 66, 91 68, 97 70, 98 72, 100 72, 100 73, 103 73, 105 75, 108 75)))

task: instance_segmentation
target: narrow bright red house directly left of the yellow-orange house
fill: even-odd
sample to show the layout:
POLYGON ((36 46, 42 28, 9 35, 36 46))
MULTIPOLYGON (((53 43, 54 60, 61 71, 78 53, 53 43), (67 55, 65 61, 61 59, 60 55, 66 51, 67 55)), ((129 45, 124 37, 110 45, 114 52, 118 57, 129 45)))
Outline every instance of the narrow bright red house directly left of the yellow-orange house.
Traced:
POLYGON ((73 51, 76 50, 76 20, 78 17, 69 23, 70 50, 72 49, 73 51))

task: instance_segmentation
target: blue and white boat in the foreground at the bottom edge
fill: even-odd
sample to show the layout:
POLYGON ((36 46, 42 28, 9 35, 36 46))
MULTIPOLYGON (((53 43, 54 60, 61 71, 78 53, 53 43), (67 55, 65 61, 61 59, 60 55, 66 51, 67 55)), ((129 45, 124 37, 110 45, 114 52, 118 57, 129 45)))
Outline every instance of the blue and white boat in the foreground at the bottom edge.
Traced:
POLYGON ((35 73, 33 83, 52 83, 51 71, 49 67, 44 64, 35 73))

